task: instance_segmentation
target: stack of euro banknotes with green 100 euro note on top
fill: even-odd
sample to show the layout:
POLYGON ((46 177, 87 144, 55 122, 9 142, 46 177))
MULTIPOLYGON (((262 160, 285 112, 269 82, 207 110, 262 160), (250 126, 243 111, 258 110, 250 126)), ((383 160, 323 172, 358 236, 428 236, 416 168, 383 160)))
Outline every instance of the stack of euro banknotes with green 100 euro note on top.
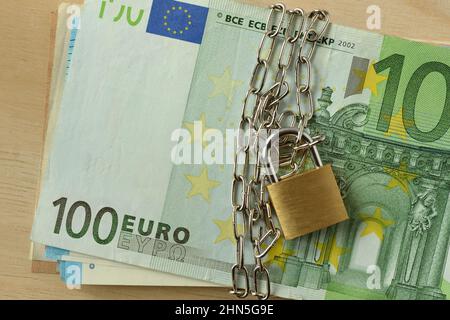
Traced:
MULTIPOLYGON (((210 161, 194 133, 237 128, 267 15, 233 0, 61 5, 35 271, 69 288, 231 286, 234 154, 210 161)), ((272 293, 447 299, 449 49, 331 24, 313 84, 310 130, 350 220, 280 239, 265 257, 272 293)))

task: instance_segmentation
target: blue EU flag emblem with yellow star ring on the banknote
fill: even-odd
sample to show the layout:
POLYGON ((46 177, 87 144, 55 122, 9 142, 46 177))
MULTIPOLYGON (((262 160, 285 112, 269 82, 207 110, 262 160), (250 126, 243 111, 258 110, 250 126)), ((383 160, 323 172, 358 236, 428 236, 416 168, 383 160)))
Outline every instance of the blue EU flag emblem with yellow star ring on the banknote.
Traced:
POLYGON ((208 8, 172 0, 153 0, 147 32, 202 43, 208 8))

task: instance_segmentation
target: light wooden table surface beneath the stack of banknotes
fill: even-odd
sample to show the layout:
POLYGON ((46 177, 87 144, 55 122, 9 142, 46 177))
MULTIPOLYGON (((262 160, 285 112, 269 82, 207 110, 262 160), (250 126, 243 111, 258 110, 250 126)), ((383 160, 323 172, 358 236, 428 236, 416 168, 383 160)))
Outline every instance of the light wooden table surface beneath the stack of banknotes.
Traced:
MULTIPOLYGON (((50 12, 61 0, 3 0, 0 8, 0 298, 228 299, 223 288, 102 287, 68 290, 56 275, 31 273, 30 230, 46 118, 50 12)), ((249 0, 262 5, 272 1, 249 0)), ((324 8, 339 24, 366 28, 381 8, 385 34, 450 44, 450 0, 286 0, 324 8)))

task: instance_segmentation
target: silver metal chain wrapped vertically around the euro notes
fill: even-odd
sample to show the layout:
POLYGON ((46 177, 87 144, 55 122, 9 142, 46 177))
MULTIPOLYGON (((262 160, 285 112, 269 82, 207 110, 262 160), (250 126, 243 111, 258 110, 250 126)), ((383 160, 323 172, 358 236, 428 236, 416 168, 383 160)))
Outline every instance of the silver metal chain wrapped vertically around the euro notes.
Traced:
MULTIPOLYGON (((233 230, 236 239, 236 264, 232 267, 233 289, 231 293, 239 298, 247 297, 250 291, 258 299, 265 300, 270 296, 270 276, 267 267, 263 263, 263 259, 276 245, 281 236, 281 230, 275 225, 272 206, 269 202, 267 191, 267 185, 270 183, 269 178, 261 172, 262 165, 259 140, 264 133, 270 135, 272 130, 279 129, 281 122, 288 116, 294 119, 292 125, 297 122, 295 119, 300 116, 299 127, 304 124, 303 129, 311 119, 313 113, 310 91, 311 58, 317 40, 326 31, 326 26, 320 32, 317 32, 315 28, 317 27, 317 20, 323 20, 325 18, 328 19, 325 11, 313 11, 308 17, 309 24, 306 32, 302 32, 306 20, 302 9, 296 8, 286 11, 284 4, 272 5, 266 23, 267 30, 258 48, 257 63, 253 69, 239 123, 237 152, 234 158, 233 180, 231 184, 233 230), (275 47, 279 41, 278 38, 280 38, 278 36, 282 33, 285 20, 287 21, 287 27, 284 32, 284 40, 281 44, 277 61, 278 69, 275 75, 275 83, 266 92, 263 92, 264 88, 267 87, 266 81, 269 66, 272 63, 275 47), (273 28, 270 28, 271 26, 273 28), (286 75, 295 55, 296 43, 300 39, 302 40, 300 42, 300 51, 295 67, 299 115, 292 111, 279 114, 278 109, 280 103, 290 92, 286 75), (303 51, 307 43, 311 43, 312 46, 310 51, 305 55, 303 51), (302 65, 307 65, 308 67, 308 81, 306 83, 301 82, 302 65), (309 109, 306 112, 301 108, 301 97, 303 95, 306 95, 311 100, 309 109), (250 132, 247 137, 244 134, 245 130, 250 132), (256 158, 255 164, 250 163, 251 157, 256 158), (243 230, 239 230, 239 221, 244 226, 243 230), (249 237, 251 240, 255 260, 255 267, 252 274, 253 290, 250 290, 250 274, 244 261, 246 237, 249 237), (263 244, 266 244, 266 247, 263 248, 263 244), (239 280, 242 278, 244 279, 243 286, 240 287, 239 280), (265 282, 265 290, 262 290, 262 282, 265 282)), ((300 139, 295 144, 297 148, 292 149, 292 156, 289 157, 291 163, 295 160, 295 154, 299 150, 304 150, 304 148, 299 146, 301 135, 299 137, 300 139)))

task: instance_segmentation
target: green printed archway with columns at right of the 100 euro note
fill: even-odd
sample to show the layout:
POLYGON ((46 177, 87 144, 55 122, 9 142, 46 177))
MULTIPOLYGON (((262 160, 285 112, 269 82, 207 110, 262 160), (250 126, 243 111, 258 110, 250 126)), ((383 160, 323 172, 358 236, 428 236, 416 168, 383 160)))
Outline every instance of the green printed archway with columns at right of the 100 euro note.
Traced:
POLYGON ((351 219, 286 241, 272 265, 275 282, 355 298, 445 299, 450 152, 370 137, 360 130, 370 107, 352 104, 330 116, 332 93, 323 89, 311 130, 327 137, 321 155, 333 164, 351 219), (375 289, 367 285, 371 268, 381 276, 375 289))

